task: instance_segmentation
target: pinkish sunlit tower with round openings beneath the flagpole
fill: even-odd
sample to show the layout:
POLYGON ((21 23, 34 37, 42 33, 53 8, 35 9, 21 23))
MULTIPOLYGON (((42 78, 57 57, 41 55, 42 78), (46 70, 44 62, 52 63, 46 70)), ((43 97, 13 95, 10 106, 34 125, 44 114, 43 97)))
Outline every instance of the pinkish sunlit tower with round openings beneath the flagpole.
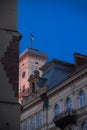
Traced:
POLYGON ((29 92, 28 79, 35 70, 38 70, 40 76, 42 67, 47 60, 47 55, 32 48, 26 49, 19 57, 19 102, 23 96, 27 96, 29 92))

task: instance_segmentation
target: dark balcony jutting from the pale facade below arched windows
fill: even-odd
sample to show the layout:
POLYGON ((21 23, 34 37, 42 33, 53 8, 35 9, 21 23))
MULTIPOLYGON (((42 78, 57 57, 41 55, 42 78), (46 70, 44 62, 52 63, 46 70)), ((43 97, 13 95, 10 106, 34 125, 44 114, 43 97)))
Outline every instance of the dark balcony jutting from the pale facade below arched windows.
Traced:
POLYGON ((55 116, 53 121, 55 125, 62 130, 70 124, 76 123, 76 110, 67 109, 64 112, 60 113, 58 116, 55 116))

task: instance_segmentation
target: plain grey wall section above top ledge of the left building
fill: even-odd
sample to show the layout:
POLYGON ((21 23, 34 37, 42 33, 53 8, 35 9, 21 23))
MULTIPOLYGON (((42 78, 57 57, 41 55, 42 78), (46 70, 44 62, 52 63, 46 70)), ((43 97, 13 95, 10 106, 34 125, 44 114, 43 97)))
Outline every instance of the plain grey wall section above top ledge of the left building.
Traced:
POLYGON ((0 0, 0 29, 17 29, 17 0, 0 0))

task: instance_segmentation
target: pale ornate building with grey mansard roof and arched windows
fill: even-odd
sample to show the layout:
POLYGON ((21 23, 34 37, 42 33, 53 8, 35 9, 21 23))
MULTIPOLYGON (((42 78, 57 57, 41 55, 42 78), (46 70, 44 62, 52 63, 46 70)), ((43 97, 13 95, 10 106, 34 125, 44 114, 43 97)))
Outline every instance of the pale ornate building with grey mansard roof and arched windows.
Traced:
POLYGON ((53 59, 32 74, 23 98, 21 130, 87 130, 87 57, 75 64, 53 59))

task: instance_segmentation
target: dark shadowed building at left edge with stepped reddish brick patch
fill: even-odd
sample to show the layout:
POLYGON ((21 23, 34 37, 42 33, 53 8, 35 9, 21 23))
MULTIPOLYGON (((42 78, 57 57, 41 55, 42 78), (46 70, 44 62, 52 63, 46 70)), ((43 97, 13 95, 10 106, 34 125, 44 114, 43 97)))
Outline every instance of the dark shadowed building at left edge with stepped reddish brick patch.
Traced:
POLYGON ((0 130, 20 130, 17 0, 0 0, 0 130))

